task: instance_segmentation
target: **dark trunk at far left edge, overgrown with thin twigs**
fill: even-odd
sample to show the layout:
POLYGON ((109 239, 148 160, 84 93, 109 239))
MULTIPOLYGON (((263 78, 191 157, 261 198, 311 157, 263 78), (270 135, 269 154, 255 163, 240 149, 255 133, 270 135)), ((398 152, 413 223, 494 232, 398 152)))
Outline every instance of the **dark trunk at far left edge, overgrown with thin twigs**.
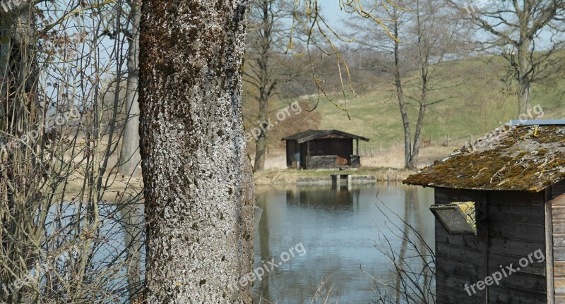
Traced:
POLYGON ((40 242, 35 238, 37 217, 30 214, 35 214, 31 206, 41 200, 37 189, 43 182, 42 164, 35 147, 20 148, 42 116, 35 9, 24 1, 0 6, 0 23, 0 302, 25 303, 24 295, 35 286, 6 286, 18 286, 29 276, 40 242))

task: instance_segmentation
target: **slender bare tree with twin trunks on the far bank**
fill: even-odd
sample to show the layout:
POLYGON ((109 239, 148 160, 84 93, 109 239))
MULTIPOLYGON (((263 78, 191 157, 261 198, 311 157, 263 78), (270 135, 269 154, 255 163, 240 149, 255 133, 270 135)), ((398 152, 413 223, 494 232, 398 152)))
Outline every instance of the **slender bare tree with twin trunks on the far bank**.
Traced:
POLYGON ((388 13, 391 32, 386 35, 374 31, 381 24, 367 15, 360 14, 362 18, 349 25, 360 33, 356 40, 359 48, 379 50, 377 66, 393 76, 394 95, 403 121, 405 168, 416 169, 426 109, 446 100, 431 96, 430 92, 453 87, 442 83, 444 79, 435 75, 435 68, 444 59, 460 54, 468 38, 461 34, 465 29, 463 22, 452 18, 453 11, 441 1, 398 1, 388 13), (413 70, 418 71, 415 78, 410 77, 413 70), (410 106, 417 109, 415 126, 410 122, 410 106))

